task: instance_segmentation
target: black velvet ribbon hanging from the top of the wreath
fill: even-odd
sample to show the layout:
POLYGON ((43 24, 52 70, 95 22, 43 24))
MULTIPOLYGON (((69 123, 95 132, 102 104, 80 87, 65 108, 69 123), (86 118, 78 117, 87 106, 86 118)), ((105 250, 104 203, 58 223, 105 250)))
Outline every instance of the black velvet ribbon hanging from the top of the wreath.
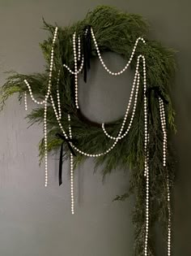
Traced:
POLYGON ((87 71, 90 70, 91 58, 91 26, 83 29, 83 80, 87 82, 87 71))

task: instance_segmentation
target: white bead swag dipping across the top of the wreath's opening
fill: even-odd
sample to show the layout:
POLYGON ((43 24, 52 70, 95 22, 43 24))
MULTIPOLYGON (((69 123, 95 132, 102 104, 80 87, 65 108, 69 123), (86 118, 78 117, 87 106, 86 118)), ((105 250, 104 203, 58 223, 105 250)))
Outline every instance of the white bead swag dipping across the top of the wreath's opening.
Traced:
POLYGON ((128 63, 125 65, 125 67, 124 67, 123 69, 121 69, 120 72, 111 72, 111 71, 108 69, 108 67, 105 65, 104 60, 103 60, 102 57, 101 57, 100 50, 99 50, 98 44, 97 44, 97 42, 96 42, 96 37, 95 37, 94 32, 93 32, 93 28, 91 28, 91 36, 92 36, 93 41, 94 41, 94 44, 95 44, 95 46, 96 46, 96 51, 97 51, 97 54, 98 54, 98 57, 99 57, 99 59, 100 59, 101 64, 103 65, 104 69, 105 69, 110 75, 112 75, 112 76, 119 76, 119 75, 121 75, 121 74, 122 74, 123 72, 125 72, 125 70, 129 67, 129 64, 131 63, 132 59, 134 58, 134 53, 135 53, 135 50, 136 50, 136 48, 137 48, 137 46, 138 46, 138 41, 142 41, 144 44, 146 44, 146 41, 144 40, 144 38, 138 37, 138 39, 136 40, 136 42, 135 42, 135 44, 134 44, 134 49, 133 49, 133 51, 132 51, 132 53, 131 53, 131 55, 130 55, 129 61, 128 61, 128 63))

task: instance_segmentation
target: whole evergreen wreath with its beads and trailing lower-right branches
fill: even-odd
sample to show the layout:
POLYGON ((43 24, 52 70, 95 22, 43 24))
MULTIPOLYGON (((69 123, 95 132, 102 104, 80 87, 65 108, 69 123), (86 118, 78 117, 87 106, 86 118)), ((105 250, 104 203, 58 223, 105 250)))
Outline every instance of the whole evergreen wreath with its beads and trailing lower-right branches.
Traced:
MULTIPOLYGON (((148 232, 148 216, 150 230, 156 221, 162 224, 164 233, 166 234, 165 237, 168 237, 168 255, 170 255, 171 222, 169 222, 169 219, 171 219, 172 215, 170 190, 172 189, 175 177, 175 158, 172 145, 169 140, 167 141, 167 137, 165 137, 164 126, 167 129, 166 136, 168 135, 170 137, 172 132, 176 132, 174 124, 175 111, 172 108, 172 100, 170 98, 170 90, 176 70, 174 50, 163 47, 158 41, 148 39, 149 26, 141 15, 120 12, 112 7, 97 7, 94 11, 88 12, 84 20, 70 27, 59 27, 55 30, 55 26, 45 23, 45 20, 44 24, 45 29, 50 33, 48 40, 40 44, 47 62, 45 72, 32 75, 11 73, 1 89, 2 108, 6 99, 13 93, 19 93, 19 101, 24 95, 26 107, 27 92, 29 95, 33 93, 40 100, 44 100, 49 90, 49 68, 52 67, 51 97, 54 102, 57 102, 54 105, 55 109, 58 109, 57 116, 51 106, 50 97, 47 98, 46 114, 44 106, 40 106, 33 109, 27 116, 32 124, 43 123, 46 117, 47 148, 45 148, 46 139, 43 138, 39 145, 40 162, 45 157, 45 150, 57 150, 62 146, 62 150, 66 152, 66 155, 72 157, 72 159, 73 154, 76 155, 74 157, 74 167, 77 167, 79 163, 82 163, 87 158, 87 155, 78 154, 79 152, 74 147, 72 152, 72 143, 77 147, 75 141, 78 141, 78 148, 92 155, 105 152, 113 145, 113 141, 118 137, 118 131, 121 130, 123 118, 104 126, 105 132, 107 131, 108 134, 106 136, 101 124, 87 120, 79 111, 78 107, 76 107, 76 103, 78 102, 76 102, 77 98, 74 88, 74 72, 72 74, 71 71, 76 71, 77 68, 80 69, 80 65, 83 63, 81 70, 83 70, 84 80, 86 80, 90 65, 87 55, 89 54, 91 58, 96 58, 97 56, 96 45, 88 37, 88 34, 91 36, 91 28, 93 28, 100 53, 112 51, 121 54, 127 61, 132 54, 134 44, 138 41, 138 38, 144 38, 146 40, 146 43, 139 40, 136 45, 137 48, 135 47, 136 50, 134 50, 134 58, 131 59, 129 65, 133 70, 136 70, 136 60, 138 56, 144 54, 146 59, 147 89, 146 91, 143 89, 144 68, 143 70, 139 69, 137 80, 139 80, 140 85, 137 95, 136 111, 132 107, 130 108, 131 112, 127 115, 124 124, 124 130, 128 128, 129 122, 131 123, 131 128, 129 128, 128 135, 121 143, 113 146, 108 154, 100 154, 99 158, 95 158, 95 163, 96 167, 103 167, 104 176, 117 168, 124 169, 125 171, 129 170, 130 186, 127 184, 129 189, 123 195, 117 196, 115 200, 124 201, 131 194, 134 194, 136 198, 133 212, 135 255, 155 254, 153 234, 151 231, 148 232), (74 59, 74 54, 76 53, 74 53, 73 42, 74 37, 77 36, 79 36, 79 42, 83 41, 83 46, 86 49, 84 51, 84 49, 81 50, 79 48, 78 62, 75 64, 76 59, 74 59), (89 40, 89 45, 87 39, 89 40), (86 51, 87 48, 88 51, 86 51), (32 86, 32 89, 30 89, 29 85, 32 86), (145 151, 146 141, 144 133, 146 117, 144 115, 143 102, 145 97, 148 102, 148 108, 146 108, 149 133, 147 151, 145 151), (131 122, 130 115, 133 112, 134 119, 131 122), (62 128, 67 133, 68 140, 66 140, 63 134, 61 135, 61 129, 57 119, 60 119, 62 128), (74 141, 72 141, 71 129, 74 141), (56 137, 55 134, 58 136, 56 137), (166 151, 167 148, 168 150, 166 151), (148 179, 146 168, 148 166, 151 170, 149 172, 149 179, 151 180, 149 188, 146 186, 146 179, 148 179), (147 197, 148 193, 150 195, 149 197, 147 197), (148 198, 151 210, 146 215, 146 210, 148 209, 146 199, 148 198)), ((143 60, 140 59, 140 63, 143 60)), ((147 181, 149 184, 149 180, 147 181)), ((60 180, 60 183, 62 183, 62 180, 60 180)))

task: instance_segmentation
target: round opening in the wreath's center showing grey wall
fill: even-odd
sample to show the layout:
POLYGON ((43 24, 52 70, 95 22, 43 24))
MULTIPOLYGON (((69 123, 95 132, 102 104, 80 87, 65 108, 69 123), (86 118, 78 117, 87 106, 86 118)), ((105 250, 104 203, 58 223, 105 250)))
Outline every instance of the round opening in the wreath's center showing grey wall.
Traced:
MULTIPOLYGON (((105 63, 112 71, 121 70, 126 63, 120 54, 105 52, 105 63)), ((98 58, 91 59, 87 83, 79 75, 79 107, 91 122, 110 123, 124 115, 134 78, 130 67, 121 76, 110 76, 98 58)))

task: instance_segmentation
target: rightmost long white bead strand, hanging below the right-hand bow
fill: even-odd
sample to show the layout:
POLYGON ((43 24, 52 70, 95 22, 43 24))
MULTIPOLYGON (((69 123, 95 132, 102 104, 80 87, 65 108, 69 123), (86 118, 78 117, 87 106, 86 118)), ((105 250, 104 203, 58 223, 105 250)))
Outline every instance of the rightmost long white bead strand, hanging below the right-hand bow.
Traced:
MULTIPOLYGON (((167 158, 167 131, 166 131, 166 118, 165 118, 165 111, 164 111, 164 104, 163 100, 159 98, 159 113, 160 113, 160 120, 161 126, 163 130, 163 167, 166 167, 166 158, 167 158)), ((171 198, 170 198, 170 188, 169 188, 169 177, 167 175, 167 197, 168 197, 168 256, 171 255, 171 198)))

